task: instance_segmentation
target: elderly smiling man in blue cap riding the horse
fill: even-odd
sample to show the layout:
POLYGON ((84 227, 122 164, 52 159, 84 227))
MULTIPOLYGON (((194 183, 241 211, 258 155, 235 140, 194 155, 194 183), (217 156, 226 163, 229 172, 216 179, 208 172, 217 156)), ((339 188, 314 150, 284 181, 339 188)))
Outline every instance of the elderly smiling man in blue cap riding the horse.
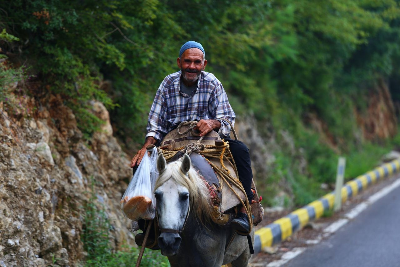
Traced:
MULTIPOLYGON (((251 203, 253 174, 250 154, 244 143, 229 137, 230 125, 223 119, 228 119, 233 125, 235 113, 221 82, 213 74, 204 71, 207 60, 203 46, 194 41, 186 42, 180 48, 176 62, 180 71, 166 76, 158 88, 148 117, 146 141, 133 157, 130 167, 139 165, 146 147, 160 144, 164 136, 180 122, 196 120, 198 123, 195 128, 200 131, 200 136, 215 130, 222 139, 229 141, 239 179, 251 203)), ((241 232, 249 230, 248 216, 243 207, 231 226, 241 232)))

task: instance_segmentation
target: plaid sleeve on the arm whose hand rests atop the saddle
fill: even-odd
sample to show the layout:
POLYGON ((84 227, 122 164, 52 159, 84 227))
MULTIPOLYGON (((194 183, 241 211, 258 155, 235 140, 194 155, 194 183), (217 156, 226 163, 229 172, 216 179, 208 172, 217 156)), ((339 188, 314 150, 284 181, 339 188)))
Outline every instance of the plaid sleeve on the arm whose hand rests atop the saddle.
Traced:
POLYGON ((215 97, 210 98, 210 106, 215 110, 215 118, 221 122, 221 128, 218 130, 218 134, 220 137, 228 137, 230 135, 230 125, 226 120, 229 120, 232 123, 232 126, 235 124, 235 112, 229 104, 228 96, 222 84, 219 84, 215 88, 215 97), (226 120, 224 120, 226 119, 226 120))

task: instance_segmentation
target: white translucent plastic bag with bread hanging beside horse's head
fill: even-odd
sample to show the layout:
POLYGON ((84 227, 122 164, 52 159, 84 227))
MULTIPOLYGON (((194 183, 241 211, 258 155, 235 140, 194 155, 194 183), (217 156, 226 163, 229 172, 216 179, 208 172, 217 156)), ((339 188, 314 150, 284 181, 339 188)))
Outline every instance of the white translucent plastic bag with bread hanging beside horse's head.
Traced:
POLYGON ((157 148, 149 156, 144 153, 142 161, 120 201, 122 213, 131 220, 154 219, 156 202, 153 189, 158 177, 157 148))

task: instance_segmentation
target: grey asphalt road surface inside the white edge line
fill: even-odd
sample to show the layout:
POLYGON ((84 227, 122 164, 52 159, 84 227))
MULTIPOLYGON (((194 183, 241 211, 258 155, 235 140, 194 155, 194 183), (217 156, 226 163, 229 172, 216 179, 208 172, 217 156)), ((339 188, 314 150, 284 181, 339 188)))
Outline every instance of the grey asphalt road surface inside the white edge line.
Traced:
POLYGON ((400 267, 400 187, 284 266, 400 267))

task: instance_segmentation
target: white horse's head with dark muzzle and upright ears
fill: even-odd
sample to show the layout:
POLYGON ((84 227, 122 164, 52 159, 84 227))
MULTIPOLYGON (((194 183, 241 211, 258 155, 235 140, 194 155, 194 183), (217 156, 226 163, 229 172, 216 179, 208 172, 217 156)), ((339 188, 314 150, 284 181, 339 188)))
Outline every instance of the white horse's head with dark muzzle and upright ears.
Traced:
POLYGON ((157 159, 160 177, 154 195, 161 231, 158 245, 165 256, 177 253, 181 241, 179 234, 190 212, 190 179, 186 176, 190 167, 191 161, 187 154, 183 156, 181 163, 173 162, 167 165, 162 154, 157 159))

